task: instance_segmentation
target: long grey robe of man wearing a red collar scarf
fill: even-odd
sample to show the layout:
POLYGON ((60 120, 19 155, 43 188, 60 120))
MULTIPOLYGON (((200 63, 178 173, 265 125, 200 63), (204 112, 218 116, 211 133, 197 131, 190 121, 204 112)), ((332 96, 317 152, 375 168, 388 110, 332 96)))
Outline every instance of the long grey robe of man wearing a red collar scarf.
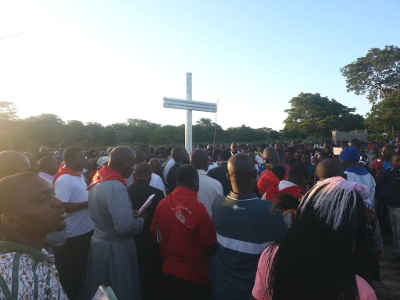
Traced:
POLYGON ((143 219, 133 216, 126 187, 116 180, 92 187, 89 215, 95 229, 89 253, 88 299, 101 284, 111 286, 118 300, 141 299, 133 236, 142 231, 143 219))

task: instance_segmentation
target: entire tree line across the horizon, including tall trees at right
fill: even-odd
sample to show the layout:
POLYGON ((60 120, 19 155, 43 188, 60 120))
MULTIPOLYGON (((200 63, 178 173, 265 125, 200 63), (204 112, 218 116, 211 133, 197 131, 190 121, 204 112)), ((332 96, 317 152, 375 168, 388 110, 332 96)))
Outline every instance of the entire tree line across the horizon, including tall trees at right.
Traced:
MULTIPOLYGON (((400 130, 400 48, 385 46, 370 49, 363 57, 341 69, 348 92, 365 95, 372 104, 365 116, 355 113, 336 99, 318 93, 300 93, 286 110, 284 129, 250 128, 242 125, 223 129, 210 119, 193 126, 194 144, 273 143, 328 140, 332 130, 368 129, 374 138, 400 130)), ((63 121, 53 114, 18 118, 11 102, 0 102, 0 149, 30 150, 41 145, 88 148, 116 144, 176 145, 184 143, 184 125, 162 126, 140 119, 103 126, 99 123, 63 121)))

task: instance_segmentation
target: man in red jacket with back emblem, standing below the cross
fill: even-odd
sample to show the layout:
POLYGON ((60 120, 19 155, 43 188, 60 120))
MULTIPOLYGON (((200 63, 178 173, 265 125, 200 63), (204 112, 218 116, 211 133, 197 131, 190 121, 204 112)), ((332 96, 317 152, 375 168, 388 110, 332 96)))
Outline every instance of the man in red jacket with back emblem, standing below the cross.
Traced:
POLYGON ((182 166, 176 177, 177 187, 161 200, 151 226, 163 257, 166 299, 208 299, 209 257, 215 253, 217 242, 215 228, 197 200, 197 171, 182 166))

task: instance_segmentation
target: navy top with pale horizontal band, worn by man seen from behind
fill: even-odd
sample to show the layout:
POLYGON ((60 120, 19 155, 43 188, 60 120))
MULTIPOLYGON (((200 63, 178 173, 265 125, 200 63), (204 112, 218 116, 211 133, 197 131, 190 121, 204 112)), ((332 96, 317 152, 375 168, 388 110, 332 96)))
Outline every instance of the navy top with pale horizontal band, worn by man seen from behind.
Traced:
POLYGON ((213 207, 218 249, 215 262, 215 299, 250 299, 258 259, 272 242, 286 234, 282 215, 271 201, 256 194, 229 194, 213 207))

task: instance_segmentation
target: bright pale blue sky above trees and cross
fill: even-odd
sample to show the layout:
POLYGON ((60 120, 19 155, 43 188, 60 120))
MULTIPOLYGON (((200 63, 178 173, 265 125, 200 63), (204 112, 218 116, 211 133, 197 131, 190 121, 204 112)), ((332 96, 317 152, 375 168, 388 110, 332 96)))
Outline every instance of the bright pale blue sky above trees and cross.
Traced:
POLYGON ((0 101, 104 125, 180 125, 164 96, 218 102, 193 112, 224 128, 282 129, 289 101, 320 93, 366 114, 340 68, 400 45, 399 0, 1 0, 0 101))

